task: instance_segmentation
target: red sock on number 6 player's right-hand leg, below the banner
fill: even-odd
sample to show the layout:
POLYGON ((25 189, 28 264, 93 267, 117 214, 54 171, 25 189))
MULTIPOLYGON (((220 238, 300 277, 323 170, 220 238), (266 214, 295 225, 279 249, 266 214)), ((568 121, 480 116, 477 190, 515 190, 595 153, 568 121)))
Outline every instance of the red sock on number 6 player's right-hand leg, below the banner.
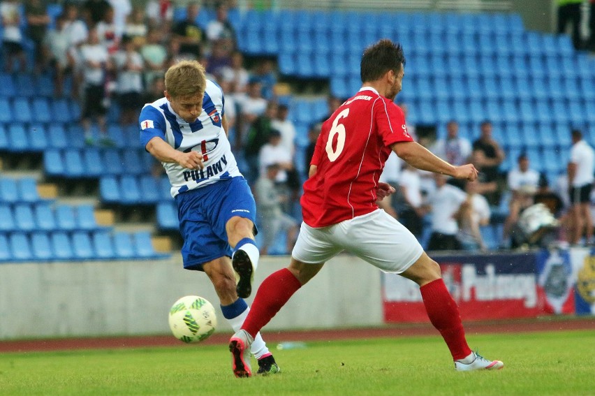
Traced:
POLYGON ((453 355, 453 360, 466 358, 471 349, 465 339, 465 330, 457 303, 448 293, 442 279, 436 279, 420 287, 427 316, 440 332, 453 355))

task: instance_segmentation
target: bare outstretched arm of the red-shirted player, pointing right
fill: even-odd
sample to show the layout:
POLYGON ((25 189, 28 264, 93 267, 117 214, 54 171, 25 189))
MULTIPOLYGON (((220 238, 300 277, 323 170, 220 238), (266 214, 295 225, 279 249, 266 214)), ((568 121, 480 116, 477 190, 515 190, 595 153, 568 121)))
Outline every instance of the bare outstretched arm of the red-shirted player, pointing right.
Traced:
POLYGON ((457 179, 470 181, 477 179, 477 169, 471 163, 462 166, 451 165, 418 142, 397 142, 391 146, 391 149, 403 161, 420 170, 429 170, 429 172, 441 173, 457 179))

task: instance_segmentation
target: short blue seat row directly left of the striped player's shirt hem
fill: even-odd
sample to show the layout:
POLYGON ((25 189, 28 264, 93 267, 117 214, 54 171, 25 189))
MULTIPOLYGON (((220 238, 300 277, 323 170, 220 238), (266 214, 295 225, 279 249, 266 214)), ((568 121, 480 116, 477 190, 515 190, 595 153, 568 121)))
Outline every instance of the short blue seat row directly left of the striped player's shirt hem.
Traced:
POLYGON ((99 196, 101 202, 115 205, 154 205, 172 200, 168 178, 152 175, 103 176, 99 196))

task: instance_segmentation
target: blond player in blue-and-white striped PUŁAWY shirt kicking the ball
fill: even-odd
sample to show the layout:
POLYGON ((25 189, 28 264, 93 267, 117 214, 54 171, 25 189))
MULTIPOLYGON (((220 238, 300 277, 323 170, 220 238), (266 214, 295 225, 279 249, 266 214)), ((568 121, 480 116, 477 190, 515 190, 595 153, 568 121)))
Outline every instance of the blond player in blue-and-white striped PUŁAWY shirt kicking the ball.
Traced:
MULTIPOLYGON (((184 268, 207 274, 223 316, 237 331, 249 312, 244 298, 251 293, 259 254, 256 203, 230 149, 223 91, 205 78, 197 61, 181 61, 166 72, 164 94, 142 108, 140 141, 170 179, 184 268)), ((251 352, 258 374, 279 372, 260 334, 251 352)))

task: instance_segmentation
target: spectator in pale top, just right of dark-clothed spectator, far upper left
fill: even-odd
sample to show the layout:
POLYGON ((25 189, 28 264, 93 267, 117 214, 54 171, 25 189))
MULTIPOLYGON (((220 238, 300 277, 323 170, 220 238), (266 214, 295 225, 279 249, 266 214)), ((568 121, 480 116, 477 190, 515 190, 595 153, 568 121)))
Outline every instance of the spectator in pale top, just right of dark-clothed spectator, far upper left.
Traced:
POLYGON ((43 40, 44 58, 54 70, 54 94, 61 96, 64 90, 64 75, 72 71, 74 58, 69 49, 71 41, 66 30, 66 15, 61 13, 56 17, 55 29, 47 31, 43 40))

